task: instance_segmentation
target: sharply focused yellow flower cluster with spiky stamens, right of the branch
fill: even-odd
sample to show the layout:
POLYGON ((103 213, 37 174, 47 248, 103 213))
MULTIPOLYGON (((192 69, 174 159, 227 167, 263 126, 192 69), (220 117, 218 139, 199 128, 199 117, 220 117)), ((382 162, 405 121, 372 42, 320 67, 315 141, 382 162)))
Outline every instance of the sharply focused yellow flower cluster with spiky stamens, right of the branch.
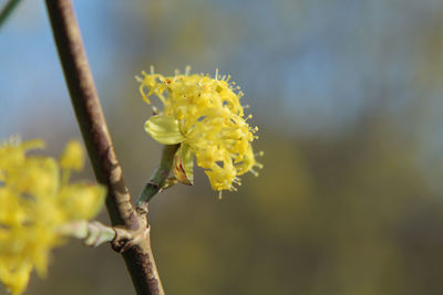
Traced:
POLYGON ((147 104, 157 96, 164 110, 145 123, 145 130, 164 145, 179 144, 174 159, 174 175, 184 183, 193 183, 193 156, 205 169, 214 190, 235 190, 239 176, 261 168, 250 143, 257 127, 247 124, 240 105, 241 92, 229 76, 189 75, 178 71, 174 76, 142 72, 140 91, 147 104))

